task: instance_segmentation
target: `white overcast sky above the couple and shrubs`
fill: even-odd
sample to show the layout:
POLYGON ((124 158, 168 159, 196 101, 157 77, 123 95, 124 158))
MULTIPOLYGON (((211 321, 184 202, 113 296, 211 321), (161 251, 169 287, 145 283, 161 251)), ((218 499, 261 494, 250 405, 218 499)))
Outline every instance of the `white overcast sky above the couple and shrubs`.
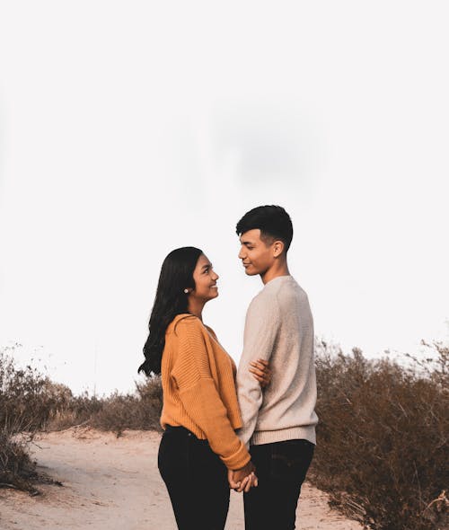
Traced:
POLYGON ((0 345, 133 388, 164 256, 203 248, 235 359, 234 225, 281 204, 319 336, 447 338, 446 2, 0 1, 0 345), (96 359, 96 360, 95 360, 96 359))

